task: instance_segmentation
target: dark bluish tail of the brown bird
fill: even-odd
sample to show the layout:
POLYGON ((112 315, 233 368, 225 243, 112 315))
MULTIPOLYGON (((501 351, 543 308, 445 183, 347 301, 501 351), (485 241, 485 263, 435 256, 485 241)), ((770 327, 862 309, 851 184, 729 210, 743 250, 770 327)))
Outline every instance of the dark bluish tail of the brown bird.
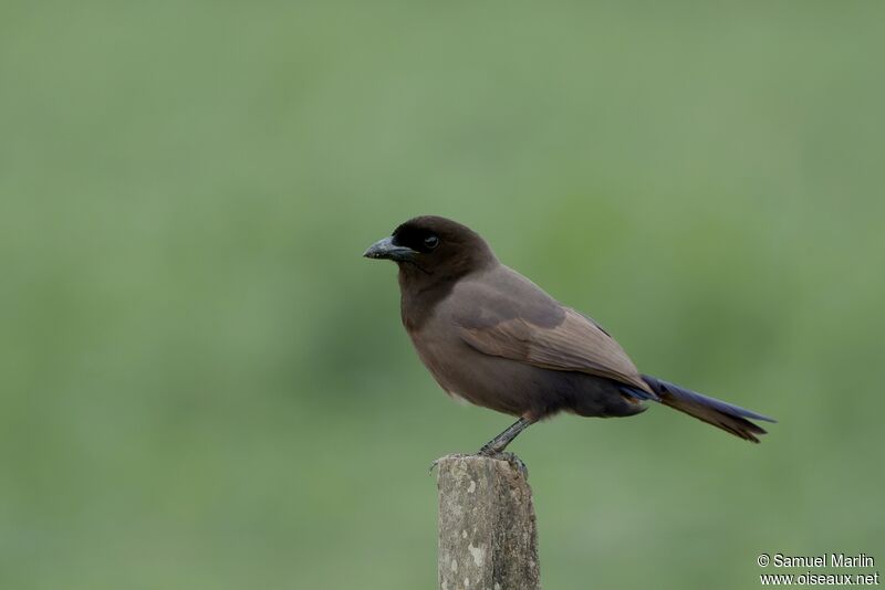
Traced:
POLYGON ((643 380, 660 398, 660 403, 669 405, 690 417, 702 420, 708 424, 730 432, 735 436, 740 436, 747 441, 759 442, 758 434, 766 431, 750 422, 750 420, 764 420, 766 422, 777 422, 767 415, 745 410, 737 405, 723 401, 701 396, 695 391, 662 381, 654 377, 643 375, 643 380), (749 419, 749 420, 748 420, 749 419))

